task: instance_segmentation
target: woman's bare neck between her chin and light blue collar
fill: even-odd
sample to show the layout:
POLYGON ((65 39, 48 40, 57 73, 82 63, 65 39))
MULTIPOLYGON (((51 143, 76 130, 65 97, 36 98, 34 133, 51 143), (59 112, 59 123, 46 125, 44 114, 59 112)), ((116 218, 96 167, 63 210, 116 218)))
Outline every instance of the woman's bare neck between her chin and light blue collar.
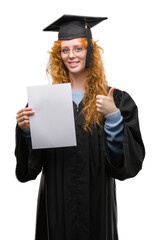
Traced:
POLYGON ((69 73, 69 79, 72 89, 85 91, 86 72, 69 73))

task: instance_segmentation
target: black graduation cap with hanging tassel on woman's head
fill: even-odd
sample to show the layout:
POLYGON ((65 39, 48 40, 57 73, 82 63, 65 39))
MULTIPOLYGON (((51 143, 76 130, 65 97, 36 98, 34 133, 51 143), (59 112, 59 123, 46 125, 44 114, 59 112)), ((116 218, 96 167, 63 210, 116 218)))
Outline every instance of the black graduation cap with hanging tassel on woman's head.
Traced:
POLYGON ((92 52, 92 33, 90 28, 94 27, 107 17, 87 17, 77 15, 63 15, 58 20, 50 24, 43 31, 53 31, 58 33, 58 40, 71 40, 75 38, 87 38, 88 48, 86 56, 86 68, 89 67, 92 52))

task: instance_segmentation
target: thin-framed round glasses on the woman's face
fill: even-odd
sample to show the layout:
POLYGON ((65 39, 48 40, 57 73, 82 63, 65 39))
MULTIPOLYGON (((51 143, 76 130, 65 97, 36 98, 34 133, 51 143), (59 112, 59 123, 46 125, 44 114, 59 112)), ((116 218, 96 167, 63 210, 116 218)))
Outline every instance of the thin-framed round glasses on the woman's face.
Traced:
POLYGON ((79 57, 83 54, 83 51, 84 51, 84 47, 82 46, 76 46, 72 49, 69 49, 69 48, 62 48, 60 50, 60 54, 61 54, 61 57, 62 58, 67 58, 70 54, 70 52, 72 51, 72 53, 74 54, 75 57, 79 57))

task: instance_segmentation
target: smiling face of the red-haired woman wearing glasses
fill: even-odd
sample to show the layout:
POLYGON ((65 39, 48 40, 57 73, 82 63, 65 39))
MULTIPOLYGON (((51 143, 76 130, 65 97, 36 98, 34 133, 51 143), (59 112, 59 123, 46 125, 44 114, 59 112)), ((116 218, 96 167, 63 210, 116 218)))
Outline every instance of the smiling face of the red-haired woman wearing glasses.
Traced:
POLYGON ((80 38, 61 42, 61 57, 70 73, 85 72, 87 49, 82 46, 80 38))

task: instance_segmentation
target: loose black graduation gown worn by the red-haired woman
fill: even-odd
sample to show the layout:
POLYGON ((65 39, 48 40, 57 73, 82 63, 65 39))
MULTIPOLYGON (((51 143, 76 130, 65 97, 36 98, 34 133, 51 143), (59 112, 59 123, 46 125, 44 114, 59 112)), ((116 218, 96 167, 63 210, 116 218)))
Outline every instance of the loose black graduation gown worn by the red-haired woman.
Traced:
MULTIPOLYGON (((134 177, 145 155, 135 102, 114 91, 124 118, 124 158, 111 159, 106 134, 98 126, 86 133, 74 106, 77 146, 30 150, 16 128, 16 176, 33 180, 42 170, 35 240, 118 240, 115 179, 134 177)), ((64 119, 65 124, 65 119, 64 119)))

